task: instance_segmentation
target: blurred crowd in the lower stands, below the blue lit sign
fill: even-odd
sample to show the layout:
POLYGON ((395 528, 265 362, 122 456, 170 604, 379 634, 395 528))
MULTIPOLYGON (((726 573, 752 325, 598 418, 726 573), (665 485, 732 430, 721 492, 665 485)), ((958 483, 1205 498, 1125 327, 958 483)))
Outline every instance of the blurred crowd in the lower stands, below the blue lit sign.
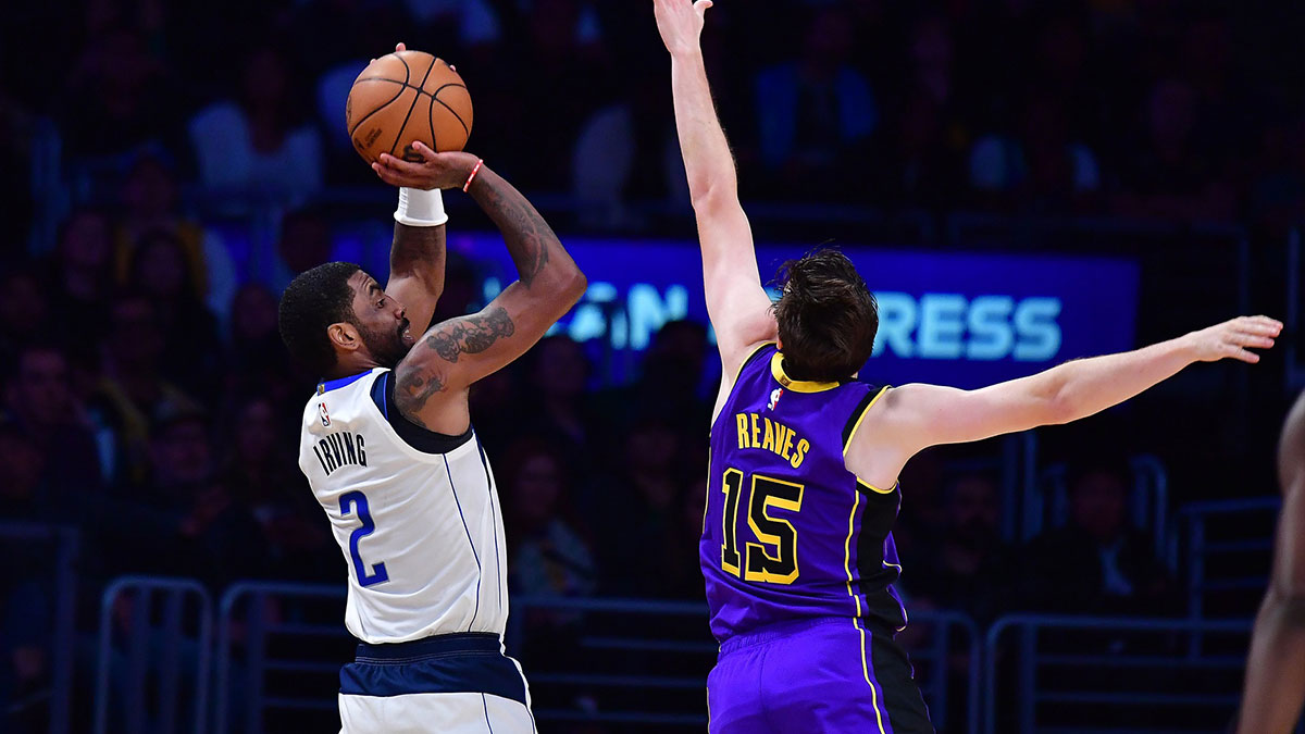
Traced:
MULTIPOLYGON (((142 239, 117 269, 115 232, 84 210, 55 257, 0 282, 0 521, 80 530, 85 633, 107 582, 125 573, 194 577, 214 597, 240 579, 339 584, 341 551, 296 466, 316 376, 287 362, 275 295, 240 287, 219 327, 177 238, 142 239)), ((467 290, 458 277, 450 293, 467 290)), ((509 586, 699 601, 719 374, 706 328, 666 324, 629 384, 600 384, 592 357, 547 337, 471 393, 502 496, 509 586)), ((1067 521, 1015 547, 1000 526, 994 462, 975 462, 993 453, 933 451, 903 477, 897 538, 911 609, 958 609, 981 623, 1018 609, 1177 609, 1169 571, 1130 521, 1125 462, 1099 451, 1073 462, 1067 521)), ((54 579, 48 558, 23 560, 33 554, 10 556, 0 584, 0 700, 16 710, 50 680, 54 579)), ((530 639, 556 641, 577 618, 525 623, 530 639)))

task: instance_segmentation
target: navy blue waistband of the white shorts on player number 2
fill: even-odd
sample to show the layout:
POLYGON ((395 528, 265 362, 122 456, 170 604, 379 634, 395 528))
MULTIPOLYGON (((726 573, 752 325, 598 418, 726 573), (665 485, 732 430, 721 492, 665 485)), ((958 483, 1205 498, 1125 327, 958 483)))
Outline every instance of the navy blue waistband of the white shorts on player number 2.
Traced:
POLYGON ((475 632, 359 645, 358 660, 339 671, 339 692, 382 697, 483 694, 526 705, 526 682, 502 654, 499 636, 475 632))

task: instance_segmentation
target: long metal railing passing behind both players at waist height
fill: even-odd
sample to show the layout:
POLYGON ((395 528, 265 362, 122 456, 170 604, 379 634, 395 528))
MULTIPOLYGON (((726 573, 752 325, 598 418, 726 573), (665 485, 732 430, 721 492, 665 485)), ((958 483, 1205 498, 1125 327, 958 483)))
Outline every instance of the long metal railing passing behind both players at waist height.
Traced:
MULTIPOLYGON (((218 605, 215 734, 270 731, 271 716, 329 714, 337 707, 337 674, 354 643, 341 623, 343 599, 338 585, 239 582, 227 589, 218 605), (298 648, 284 644, 292 639, 298 648), (287 692, 288 680, 301 687, 287 692)), ((505 645, 525 658, 540 722, 701 730, 705 678, 716 653, 706 620, 706 606, 696 602, 515 597, 505 645), (559 641, 566 654, 540 652, 559 641)), ((979 628, 955 613, 921 611, 911 624, 920 639, 912 662, 940 730, 976 734, 979 628), (966 673, 957 675, 951 663, 962 657, 966 673)))

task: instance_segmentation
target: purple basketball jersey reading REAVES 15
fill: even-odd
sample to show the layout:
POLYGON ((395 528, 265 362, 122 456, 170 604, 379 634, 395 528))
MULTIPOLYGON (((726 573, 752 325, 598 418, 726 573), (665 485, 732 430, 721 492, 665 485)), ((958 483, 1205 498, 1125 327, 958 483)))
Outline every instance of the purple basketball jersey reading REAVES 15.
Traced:
POLYGON ((711 427, 698 558, 720 641, 778 622, 861 618, 898 630, 893 522, 900 491, 860 482, 843 453, 882 391, 790 379, 758 349, 711 427))

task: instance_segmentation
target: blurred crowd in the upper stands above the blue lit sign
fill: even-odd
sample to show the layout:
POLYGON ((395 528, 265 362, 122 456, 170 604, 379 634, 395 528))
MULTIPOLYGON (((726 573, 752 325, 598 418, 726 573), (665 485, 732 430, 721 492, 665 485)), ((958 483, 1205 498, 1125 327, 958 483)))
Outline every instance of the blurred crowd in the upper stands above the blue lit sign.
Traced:
MULTIPOLYGON (((1302 20, 1180 0, 735 0, 703 44, 752 199, 1276 234, 1305 213, 1302 20)), ((684 201, 651 3, 596 0, 22 4, 0 29, 0 170, 20 204, 50 119, 104 201, 141 150, 207 192, 298 202, 367 183, 343 101, 397 40, 458 65, 471 148, 523 189, 570 196, 594 227, 684 201)))

